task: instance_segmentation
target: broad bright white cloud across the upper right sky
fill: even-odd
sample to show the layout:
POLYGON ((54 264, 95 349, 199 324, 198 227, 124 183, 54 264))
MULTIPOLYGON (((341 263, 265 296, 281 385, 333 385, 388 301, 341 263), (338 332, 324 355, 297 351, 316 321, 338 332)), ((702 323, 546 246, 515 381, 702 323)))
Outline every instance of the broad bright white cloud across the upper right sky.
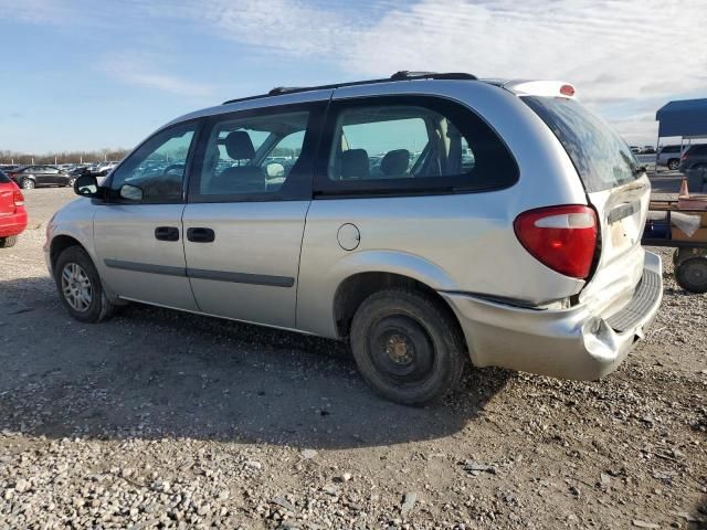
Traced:
MULTIPOLYGON (((560 78, 590 106, 707 95, 704 0, 377 3, 386 9, 374 20, 366 6, 341 14, 302 0, 207 0, 173 14, 198 14, 236 42, 329 61, 347 77, 432 70, 560 78)), ((647 124, 625 130, 653 134, 647 124)))

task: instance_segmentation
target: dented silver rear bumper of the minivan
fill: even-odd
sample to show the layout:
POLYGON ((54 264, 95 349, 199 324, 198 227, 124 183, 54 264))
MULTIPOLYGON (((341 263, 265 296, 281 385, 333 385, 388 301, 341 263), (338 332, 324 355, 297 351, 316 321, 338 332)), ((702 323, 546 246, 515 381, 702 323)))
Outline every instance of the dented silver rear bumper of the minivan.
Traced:
POLYGON ((608 316, 585 304, 535 310, 466 295, 442 296, 460 319, 475 365, 592 381, 615 370, 655 318, 663 298, 662 264, 646 252, 633 298, 608 316))

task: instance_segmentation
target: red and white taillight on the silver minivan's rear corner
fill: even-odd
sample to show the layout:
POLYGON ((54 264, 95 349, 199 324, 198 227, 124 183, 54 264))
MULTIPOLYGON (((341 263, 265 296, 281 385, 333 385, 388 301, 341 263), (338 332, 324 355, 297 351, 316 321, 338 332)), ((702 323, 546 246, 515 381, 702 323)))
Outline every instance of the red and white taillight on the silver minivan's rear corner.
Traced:
POLYGON ((514 222, 516 236, 540 263, 566 276, 587 278, 597 250, 597 214, 579 204, 540 208, 514 222))

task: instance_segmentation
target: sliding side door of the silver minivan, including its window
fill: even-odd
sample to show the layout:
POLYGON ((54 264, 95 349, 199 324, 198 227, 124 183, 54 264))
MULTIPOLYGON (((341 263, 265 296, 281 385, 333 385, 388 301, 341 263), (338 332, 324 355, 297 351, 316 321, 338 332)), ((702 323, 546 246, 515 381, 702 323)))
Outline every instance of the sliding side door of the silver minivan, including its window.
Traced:
POLYGON ((183 215, 187 273, 201 311, 295 327, 325 105, 245 110, 208 123, 183 215))

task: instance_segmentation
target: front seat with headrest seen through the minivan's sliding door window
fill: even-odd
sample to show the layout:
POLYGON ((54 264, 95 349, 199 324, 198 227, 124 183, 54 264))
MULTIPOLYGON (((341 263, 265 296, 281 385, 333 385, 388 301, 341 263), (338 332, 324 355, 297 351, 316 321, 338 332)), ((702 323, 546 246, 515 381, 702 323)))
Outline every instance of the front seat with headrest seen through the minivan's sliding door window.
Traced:
MULTIPOLYGON (((225 152, 232 160, 253 160, 255 148, 244 130, 234 130, 223 140, 225 152)), ((215 179, 219 193, 264 193, 265 173, 255 166, 239 166, 224 169, 215 179)))

